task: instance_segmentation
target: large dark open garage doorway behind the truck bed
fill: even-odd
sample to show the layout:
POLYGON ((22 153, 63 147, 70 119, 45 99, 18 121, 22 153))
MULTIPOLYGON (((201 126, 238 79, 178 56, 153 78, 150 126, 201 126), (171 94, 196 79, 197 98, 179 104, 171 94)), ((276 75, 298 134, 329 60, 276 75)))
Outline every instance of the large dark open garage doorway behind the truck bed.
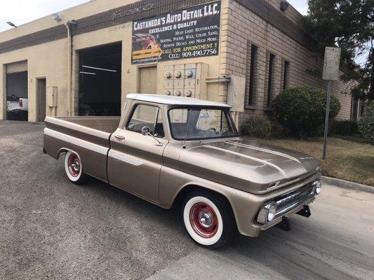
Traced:
POLYGON ((121 116, 122 44, 79 51, 79 116, 121 116))

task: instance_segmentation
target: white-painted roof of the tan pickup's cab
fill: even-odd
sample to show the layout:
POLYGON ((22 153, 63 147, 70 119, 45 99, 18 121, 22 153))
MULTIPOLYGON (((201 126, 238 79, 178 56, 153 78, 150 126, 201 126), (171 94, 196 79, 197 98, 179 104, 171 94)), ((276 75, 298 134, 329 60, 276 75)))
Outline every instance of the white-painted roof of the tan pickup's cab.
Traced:
POLYGON ((161 94, 139 94, 131 93, 127 94, 128 99, 140 100, 145 102, 153 102, 159 104, 170 104, 170 105, 187 105, 187 106, 216 106, 216 107, 226 107, 231 106, 219 102, 213 102, 208 100, 201 100, 192 97, 176 97, 170 95, 161 94))

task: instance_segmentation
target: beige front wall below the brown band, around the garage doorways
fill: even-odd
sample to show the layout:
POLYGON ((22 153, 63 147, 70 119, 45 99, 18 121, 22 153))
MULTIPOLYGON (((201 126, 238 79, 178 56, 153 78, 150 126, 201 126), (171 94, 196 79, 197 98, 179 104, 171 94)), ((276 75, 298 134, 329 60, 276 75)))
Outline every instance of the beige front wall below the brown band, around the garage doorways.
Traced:
MULTIPOLYGON (((119 1, 114 1, 119 2, 119 1)), ((131 1, 126 1, 126 3, 131 1)), ((222 5, 227 0, 222 1, 222 5)), ((121 2, 123 5, 123 1, 121 2)), ((121 6, 119 5, 119 6, 121 6)), ((81 8, 81 6, 77 7, 81 8)), ((108 7, 102 10, 107 10, 108 7)), ((98 13, 102 10, 95 10, 98 13)), ((41 26, 44 26, 44 20, 41 19, 41 26)), ((25 26, 25 29, 31 30, 31 27, 25 26)), ((0 34, 1 38, 1 34, 0 34)), ((222 38, 222 34, 221 34, 222 38)), ((0 40, 1 41, 1 40, 0 40)), ((163 94, 164 88, 164 66, 171 64, 190 64, 204 63, 208 64, 208 76, 216 77, 220 73, 220 57, 199 57, 190 59, 179 59, 176 61, 166 61, 148 63, 148 64, 131 64, 131 43, 132 43, 132 22, 123 25, 116 25, 98 31, 92 31, 86 34, 80 34, 73 37, 73 65, 72 65, 72 115, 77 113, 78 107, 78 85, 79 85, 79 50, 91 48, 108 43, 122 43, 122 77, 121 77, 121 104, 125 104, 126 94, 138 92, 139 68, 142 66, 157 66, 157 90, 155 93, 163 94)), ((56 111, 47 106, 47 116, 68 116, 68 39, 64 38, 50 43, 35 45, 12 52, 0 54, 0 65, 27 60, 28 62, 28 98, 29 98, 29 121, 37 120, 36 111, 36 78, 45 77, 47 87, 58 87, 58 106, 56 111)), ((1 68, 0 77, 5 77, 6 73, 1 68)), ((0 89, 3 89, 0 100, 0 120, 6 119, 6 88, 5 81, 0 80, 0 89)), ((208 99, 222 101, 218 93, 218 83, 210 83, 207 86, 208 99)), ((105 92, 103 92, 105 96, 105 92)))

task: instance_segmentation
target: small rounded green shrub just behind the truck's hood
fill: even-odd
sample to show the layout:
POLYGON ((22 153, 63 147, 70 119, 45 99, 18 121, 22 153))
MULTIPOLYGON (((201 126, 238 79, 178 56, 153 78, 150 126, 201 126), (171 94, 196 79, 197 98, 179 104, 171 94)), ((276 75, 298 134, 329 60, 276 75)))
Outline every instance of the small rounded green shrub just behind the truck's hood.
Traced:
POLYGON ((266 138, 272 134, 272 123, 261 116, 252 116, 241 126, 241 134, 266 138))

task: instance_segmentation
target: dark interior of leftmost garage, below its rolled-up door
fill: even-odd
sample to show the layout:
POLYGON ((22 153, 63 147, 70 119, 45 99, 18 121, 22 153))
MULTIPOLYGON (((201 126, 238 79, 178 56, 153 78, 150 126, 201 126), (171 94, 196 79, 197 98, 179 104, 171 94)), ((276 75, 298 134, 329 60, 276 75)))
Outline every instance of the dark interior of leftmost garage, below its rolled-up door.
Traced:
MULTIPOLYGON (((7 120, 25 120, 28 119, 27 108, 20 109, 20 99, 27 99, 27 71, 6 74, 6 101, 7 101, 7 120), (11 104, 13 106, 11 106, 11 104), (18 107, 18 109, 15 109, 18 107), (15 110, 13 110, 13 109, 15 110)), ((22 104, 22 102, 21 102, 22 104)), ((26 104, 25 104, 26 107, 26 104)))

